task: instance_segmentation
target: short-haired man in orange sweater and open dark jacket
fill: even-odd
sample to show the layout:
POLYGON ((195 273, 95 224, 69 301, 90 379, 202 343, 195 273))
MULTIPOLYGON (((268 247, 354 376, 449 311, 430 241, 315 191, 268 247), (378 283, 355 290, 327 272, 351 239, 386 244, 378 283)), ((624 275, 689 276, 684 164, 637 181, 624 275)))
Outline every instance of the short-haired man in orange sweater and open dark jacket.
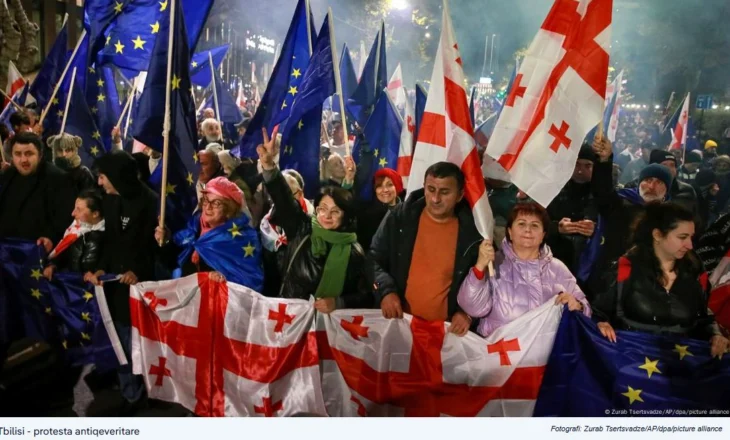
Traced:
POLYGON ((471 318, 456 297, 476 263, 482 237, 464 200, 464 174, 449 162, 431 165, 423 189, 390 211, 373 237, 367 273, 386 318, 411 313, 451 321, 465 335, 471 318))

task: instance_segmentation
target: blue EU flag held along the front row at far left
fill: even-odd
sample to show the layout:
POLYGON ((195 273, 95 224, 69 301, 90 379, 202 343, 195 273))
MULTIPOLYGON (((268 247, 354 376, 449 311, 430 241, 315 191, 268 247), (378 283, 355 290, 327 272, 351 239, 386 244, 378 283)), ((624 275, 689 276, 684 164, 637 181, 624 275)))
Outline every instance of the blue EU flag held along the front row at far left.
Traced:
POLYGON ((44 340, 62 346, 72 365, 116 367, 100 311, 103 289, 85 283, 81 273, 56 272, 49 281, 44 255, 34 242, 0 240, 0 344, 44 340))

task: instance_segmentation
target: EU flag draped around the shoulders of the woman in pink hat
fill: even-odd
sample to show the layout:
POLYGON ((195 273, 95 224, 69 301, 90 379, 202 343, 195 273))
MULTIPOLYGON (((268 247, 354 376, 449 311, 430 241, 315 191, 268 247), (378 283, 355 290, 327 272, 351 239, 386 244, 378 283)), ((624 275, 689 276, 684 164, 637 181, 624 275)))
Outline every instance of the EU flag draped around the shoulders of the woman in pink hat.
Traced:
POLYGON ((178 265, 183 267, 197 252, 201 261, 220 272, 226 280, 257 292, 264 288, 261 263, 261 242, 258 231, 251 226, 246 214, 213 228, 200 237, 200 213, 190 219, 188 227, 173 236, 182 248, 178 265))

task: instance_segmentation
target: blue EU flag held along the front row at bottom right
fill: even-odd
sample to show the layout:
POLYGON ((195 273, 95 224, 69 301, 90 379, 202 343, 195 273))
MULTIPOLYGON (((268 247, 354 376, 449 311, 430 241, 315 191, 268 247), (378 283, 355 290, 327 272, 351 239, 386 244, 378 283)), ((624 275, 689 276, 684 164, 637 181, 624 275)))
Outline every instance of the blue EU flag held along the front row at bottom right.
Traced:
POLYGON ((589 318, 566 308, 534 415, 728 414, 730 356, 711 358, 708 341, 616 334, 617 342, 609 342, 589 318), (691 410, 705 412, 690 414, 691 410))

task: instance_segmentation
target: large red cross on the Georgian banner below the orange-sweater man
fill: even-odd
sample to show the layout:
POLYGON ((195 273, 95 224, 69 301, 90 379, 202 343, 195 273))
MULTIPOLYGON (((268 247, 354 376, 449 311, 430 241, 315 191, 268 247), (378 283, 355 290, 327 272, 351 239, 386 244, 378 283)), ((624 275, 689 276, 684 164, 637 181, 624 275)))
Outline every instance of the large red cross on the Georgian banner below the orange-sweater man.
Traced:
POLYGON ((544 366, 515 368, 502 386, 445 383, 441 361, 443 322, 413 318, 411 330, 413 352, 407 373, 377 371, 363 359, 331 347, 323 331, 317 332, 320 358, 337 362, 349 388, 376 404, 404 408, 406 416, 474 417, 493 399, 537 399, 544 366))

